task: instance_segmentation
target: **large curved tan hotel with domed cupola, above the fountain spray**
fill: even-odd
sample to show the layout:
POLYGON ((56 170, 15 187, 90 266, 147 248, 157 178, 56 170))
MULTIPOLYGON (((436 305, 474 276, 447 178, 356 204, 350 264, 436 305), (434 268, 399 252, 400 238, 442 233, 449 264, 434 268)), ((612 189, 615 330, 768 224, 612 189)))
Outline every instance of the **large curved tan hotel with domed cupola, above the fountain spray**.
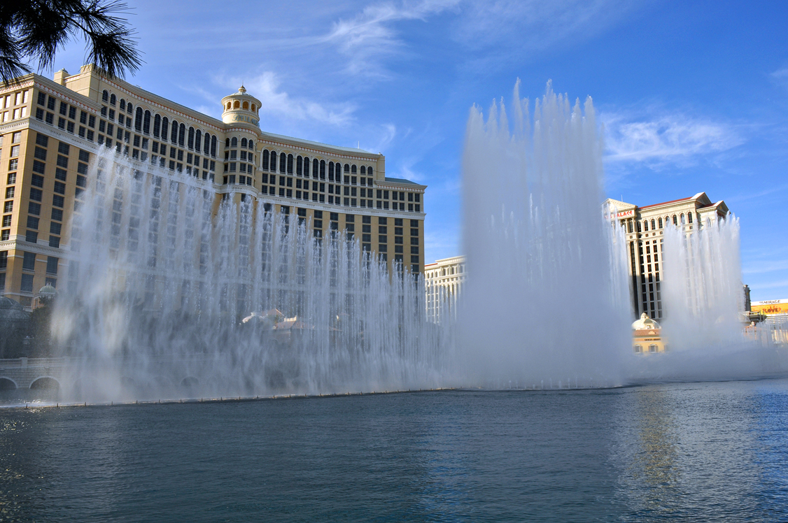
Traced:
POLYGON ((307 218, 315 237, 344 231, 422 273, 426 186, 387 178, 382 154, 262 131, 260 102, 243 87, 222 98, 217 120, 91 65, 17 80, 0 91, 0 295, 25 307, 64 277, 69 217, 99 150, 148 180, 190 177, 213 195, 214 213, 223 198, 262 200, 307 218))

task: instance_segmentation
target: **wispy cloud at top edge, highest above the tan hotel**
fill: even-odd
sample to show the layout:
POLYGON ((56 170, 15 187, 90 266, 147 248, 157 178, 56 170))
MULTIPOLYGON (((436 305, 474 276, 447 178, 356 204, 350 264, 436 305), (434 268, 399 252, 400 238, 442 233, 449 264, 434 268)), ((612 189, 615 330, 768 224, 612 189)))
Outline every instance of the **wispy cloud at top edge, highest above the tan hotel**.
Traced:
POLYGON ((402 20, 426 20, 426 17, 458 4, 459 0, 422 0, 366 6, 355 17, 335 22, 322 43, 333 43, 348 57, 348 72, 388 76, 379 60, 396 54, 403 47, 394 24, 402 20))

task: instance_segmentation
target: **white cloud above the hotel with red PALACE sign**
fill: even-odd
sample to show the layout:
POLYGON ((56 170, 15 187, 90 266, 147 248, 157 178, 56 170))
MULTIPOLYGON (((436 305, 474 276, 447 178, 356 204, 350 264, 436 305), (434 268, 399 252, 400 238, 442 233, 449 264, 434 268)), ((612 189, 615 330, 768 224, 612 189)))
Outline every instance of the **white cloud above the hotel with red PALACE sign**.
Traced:
POLYGON ((640 161, 651 165, 683 163, 744 143, 730 124, 683 114, 644 118, 603 113, 600 117, 605 124, 607 161, 640 161))

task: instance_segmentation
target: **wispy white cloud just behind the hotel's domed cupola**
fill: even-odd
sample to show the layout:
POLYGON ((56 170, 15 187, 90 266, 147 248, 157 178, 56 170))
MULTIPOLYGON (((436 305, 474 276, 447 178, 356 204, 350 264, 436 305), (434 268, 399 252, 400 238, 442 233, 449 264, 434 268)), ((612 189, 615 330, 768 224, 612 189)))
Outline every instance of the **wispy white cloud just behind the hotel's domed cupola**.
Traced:
MULTIPOLYGON (((225 87, 238 88, 242 80, 239 78, 221 79, 225 87)), ((281 80, 275 72, 266 71, 262 75, 247 79, 244 87, 260 100, 260 112, 275 117, 295 120, 314 121, 321 124, 344 126, 354 121, 355 105, 344 103, 319 103, 305 98, 292 98, 286 91, 281 91, 281 80)))

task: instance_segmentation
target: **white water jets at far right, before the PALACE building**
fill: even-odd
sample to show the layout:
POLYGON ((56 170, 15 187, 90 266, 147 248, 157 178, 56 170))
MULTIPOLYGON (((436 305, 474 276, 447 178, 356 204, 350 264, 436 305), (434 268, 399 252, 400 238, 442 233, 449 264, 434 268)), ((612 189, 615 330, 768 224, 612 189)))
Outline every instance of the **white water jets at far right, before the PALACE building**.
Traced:
POLYGON ((744 310, 739 222, 729 214, 663 236, 662 339, 657 358, 630 358, 631 380, 741 380, 788 371, 772 325, 749 325, 744 310))

